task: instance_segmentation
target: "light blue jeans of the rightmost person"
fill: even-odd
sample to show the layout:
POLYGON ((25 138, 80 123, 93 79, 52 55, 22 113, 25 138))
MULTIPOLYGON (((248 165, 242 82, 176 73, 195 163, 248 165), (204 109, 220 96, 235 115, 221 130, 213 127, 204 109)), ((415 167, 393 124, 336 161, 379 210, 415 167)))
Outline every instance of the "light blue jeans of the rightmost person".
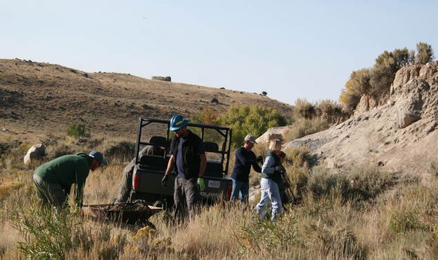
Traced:
POLYGON ((261 178, 261 197, 259 204, 256 205, 256 211, 261 217, 261 219, 266 219, 268 212, 266 212, 265 207, 268 201, 272 205, 272 217, 271 220, 275 221, 278 215, 282 211, 280 191, 278 190, 278 185, 272 179, 261 178))

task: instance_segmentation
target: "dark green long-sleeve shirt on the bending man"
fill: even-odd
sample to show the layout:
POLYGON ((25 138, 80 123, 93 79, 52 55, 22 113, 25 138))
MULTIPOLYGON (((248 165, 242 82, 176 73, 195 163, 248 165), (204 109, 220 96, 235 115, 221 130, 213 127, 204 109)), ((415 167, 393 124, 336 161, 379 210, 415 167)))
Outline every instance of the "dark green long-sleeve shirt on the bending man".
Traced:
POLYGON ((92 158, 86 153, 78 153, 76 156, 61 156, 36 168, 34 175, 41 177, 46 182, 60 184, 68 195, 71 185, 76 184, 76 203, 80 206, 83 196, 85 179, 90 172, 92 158))

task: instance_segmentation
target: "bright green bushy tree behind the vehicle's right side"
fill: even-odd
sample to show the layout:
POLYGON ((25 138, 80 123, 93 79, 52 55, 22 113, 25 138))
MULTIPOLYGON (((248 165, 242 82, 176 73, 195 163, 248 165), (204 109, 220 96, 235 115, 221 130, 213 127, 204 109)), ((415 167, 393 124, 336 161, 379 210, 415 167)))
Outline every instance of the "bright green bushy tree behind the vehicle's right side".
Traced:
POLYGON ((230 107, 220 118, 221 124, 233 129, 233 148, 240 146, 247 134, 256 137, 275 126, 286 125, 285 118, 276 109, 259 106, 230 107))

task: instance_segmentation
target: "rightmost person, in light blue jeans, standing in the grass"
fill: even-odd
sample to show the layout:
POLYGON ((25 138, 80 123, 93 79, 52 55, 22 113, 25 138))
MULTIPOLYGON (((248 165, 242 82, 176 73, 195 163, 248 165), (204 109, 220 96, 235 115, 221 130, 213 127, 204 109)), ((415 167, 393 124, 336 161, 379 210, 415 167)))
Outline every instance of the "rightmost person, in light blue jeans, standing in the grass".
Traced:
POLYGON ((281 173, 285 172, 285 168, 280 163, 281 144, 280 139, 271 140, 269 143, 270 151, 268 151, 264 165, 261 167, 261 198, 256 205, 256 212, 261 219, 266 219, 268 215, 265 210, 268 201, 271 201, 272 205, 272 221, 275 221, 282 212, 282 202, 278 189, 278 184, 282 182, 281 173))

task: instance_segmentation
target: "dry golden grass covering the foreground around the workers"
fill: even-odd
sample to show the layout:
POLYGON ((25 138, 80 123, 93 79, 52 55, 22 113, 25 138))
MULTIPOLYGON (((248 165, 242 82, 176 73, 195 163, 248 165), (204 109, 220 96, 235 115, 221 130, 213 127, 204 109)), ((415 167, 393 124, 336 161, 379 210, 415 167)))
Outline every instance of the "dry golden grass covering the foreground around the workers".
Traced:
MULTIPOLYGON (((104 150, 119 141, 97 142, 93 149, 104 150)), ((64 144, 74 151, 88 149, 88 144, 65 140, 48 150, 64 144)), ((0 165, 0 187, 8 187, 0 189, 1 259, 26 256, 17 247, 25 237, 11 227, 17 225, 8 217, 11 212, 28 219, 39 217, 29 213, 36 200, 32 169, 21 166, 19 150, 1 157, 10 162, 0 165)), ((264 154, 266 147, 259 145, 254 151, 264 154)), ((204 207, 193 221, 182 224, 171 222, 164 212, 156 214, 150 219, 156 231, 72 216, 70 221, 78 223, 71 231, 71 239, 76 240, 64 252, 65 259, 434 259, 438 252, 435 175, 427 182, 407 178, 387 185, 387 175, 372 167, 344 173, 324 167, 310 170, 306 154, 306 149, 287 154, 287 175, 301 198, 275 224, 259 221, 252 206, 242 209, 239 203, 224 202, 204 207), (354 185, 358 182, 372 196, 345 196, 360 191, 354 185)), ((84 203, 111 202, 124 165, 123 160, 114 160, 90 173, 84 203)))

